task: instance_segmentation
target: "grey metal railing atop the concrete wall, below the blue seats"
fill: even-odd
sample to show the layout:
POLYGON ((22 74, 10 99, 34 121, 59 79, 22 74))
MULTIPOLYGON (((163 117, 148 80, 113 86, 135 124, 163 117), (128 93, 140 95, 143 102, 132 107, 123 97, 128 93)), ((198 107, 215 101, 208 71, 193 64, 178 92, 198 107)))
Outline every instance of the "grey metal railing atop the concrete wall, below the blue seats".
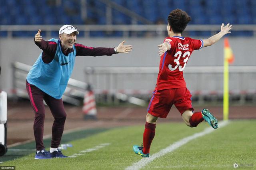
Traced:
MULTIPOLYGON (((62 25, 0 25, 0 32, 6 32, 7 38, 19 37, 17 34, 26 33, 26 36, 34 37, 39 29, 42 30, 42 36, 58 37, 58 31, 62 25)), ((94 37, 95 32, 101 32, 102 37, 111 36, 113 32, 119 32, 120 37, 142 37, 142 36, 166 36, 166 24, 160 25, 76 25, 80 37, 84 36, 94 37)), ((200 36, 201 34, 194 34, 201 32, 201 36, 211 36, 220 31, 220 25, 188 25, 184 36, 200 36)), ((240 36, 256 36, 256 25, 233 25, 232 34, 240 36), (248 32, 250 34, 240 34, 248 32)), ((22 37, 22 36, 20 36, 22 37)))

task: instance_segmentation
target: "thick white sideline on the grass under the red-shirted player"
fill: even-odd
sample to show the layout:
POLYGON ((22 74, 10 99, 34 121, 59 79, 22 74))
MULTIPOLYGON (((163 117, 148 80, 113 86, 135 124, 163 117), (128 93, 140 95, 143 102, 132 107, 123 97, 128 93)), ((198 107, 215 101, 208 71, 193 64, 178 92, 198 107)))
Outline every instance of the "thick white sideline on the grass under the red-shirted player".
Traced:
MULTIPOLYGON (((228 125, 228 123, 229 121, 222 121, 219 123, 218 128, 222 128, 228 125)), ((202 132, 198 132, 191 136, 178 140, 177 142, 170 144, 167 148, 164 148, 159 152, 157 152, 156 154, 153 154, 152 156, 150 156, 150 158, 142 158, 140 161, 133 163, 132 166, 128 166, 126 170, 139 170, 140 168, 143 168, 144 166, 146 166, 148 163, 152 162, 154 159, 159 158, 160 156, 164 156, 165 154, 178 149, 180 146, 183 146, 184 144, 190 142, 191 140, 204 136, 205 134, 209 134, 213 131, 214 131, 214 128, 208 127, 208 128, 205 128, 202 132)))

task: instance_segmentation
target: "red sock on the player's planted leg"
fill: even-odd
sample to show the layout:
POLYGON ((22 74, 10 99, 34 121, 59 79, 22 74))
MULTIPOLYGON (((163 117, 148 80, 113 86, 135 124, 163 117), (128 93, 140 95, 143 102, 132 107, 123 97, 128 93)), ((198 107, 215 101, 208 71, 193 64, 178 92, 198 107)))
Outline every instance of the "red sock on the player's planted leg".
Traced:
POLYGON ((143 147, 144 148, 143 148, 142 152, 144 154, 149 153, 150 145, 151 145, 152 140, 155 136, 155 132, 156 132, 156 124, 146 122, 145 130, 144 130, 144 133, 143 133, 143 147))

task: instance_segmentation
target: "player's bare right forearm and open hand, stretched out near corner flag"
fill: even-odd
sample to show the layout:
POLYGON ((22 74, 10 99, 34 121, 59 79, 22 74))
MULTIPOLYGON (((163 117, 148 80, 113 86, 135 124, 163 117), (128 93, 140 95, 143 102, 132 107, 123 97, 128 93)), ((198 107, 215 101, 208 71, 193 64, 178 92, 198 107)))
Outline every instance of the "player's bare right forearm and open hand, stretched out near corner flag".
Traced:
POLYGON ((207 40, 203 40, 203 42, 204 42, 203 47, 207 47, 207 46, 210 46, 210 45, 218 42, 220 40, 220 38, 222 38, 224 35, 231 33, 230 32, 231 28, 232 28, 232 25, 229 25, 229 23, 226 26, 224 26, 224 24, 222 23, 221 27, 220 27, 221 31, 218 34, 211 36, 207 40))

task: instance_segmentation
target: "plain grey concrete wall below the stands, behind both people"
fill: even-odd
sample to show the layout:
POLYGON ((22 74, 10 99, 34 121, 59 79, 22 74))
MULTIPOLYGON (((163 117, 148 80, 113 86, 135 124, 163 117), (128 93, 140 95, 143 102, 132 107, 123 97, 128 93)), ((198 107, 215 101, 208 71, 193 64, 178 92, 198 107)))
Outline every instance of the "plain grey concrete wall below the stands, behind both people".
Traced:
MULTIPOLYGON (((47 40, 47 38, 45 38, 47 40)), ((85 81, 84 68, 91 67, 115 67, 115 66, 158 66, 157 45, 164 38, 126 38, 126 44, 133 45, 133 51, 129 54, 115 54, 113 56, 79 56, 72 73, 72 78, 85 81)), ((77 42, 92 47, 115 47, 124 39, 120 38, 95 38, 81 39, 77 42)), ((230 45, 234 51, 234 66, 256 66, 254 53, 256 38, 230 38, 230 45)), ((12 67, 14 61, 33 65, 38 58, 41 49, 35 44, 33 38, 29 39, 0 39, 0 89, 10 93, 12 89, 12 67)), ((188 66, 222 66, 223 65, 223 39, 211 47, 194 51, 188 66)), ((186 70, 186 69, 185 69, 186 70)), ((154 87, 154 85, 153 85, 154 87)))

